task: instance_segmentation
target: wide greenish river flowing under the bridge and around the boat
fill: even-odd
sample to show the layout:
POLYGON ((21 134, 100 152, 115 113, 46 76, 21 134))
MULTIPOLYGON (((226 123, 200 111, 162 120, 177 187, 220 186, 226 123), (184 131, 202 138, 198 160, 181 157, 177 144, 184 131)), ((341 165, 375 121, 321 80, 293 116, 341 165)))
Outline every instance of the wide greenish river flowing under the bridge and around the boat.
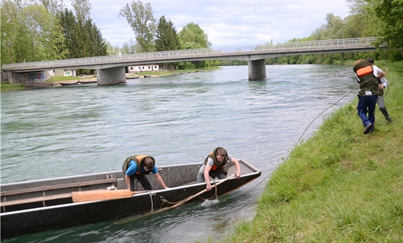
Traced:
MULTIPOLYGON (((349 66, 267 66, 267 76, 248 81, 247 66, 231 66, 132 79, 126 85, 2 92, 2 184, 120 170, 126 157, 136 154, 154 156, 157 166, 201 162, 218 146, 262 171, 225 202, 211 200, 125 224, 103 222, 2 242, 189 243, 230 234, 236 223, 254 216, 265 183, 236 195, 267 181, 309 123, 357 85, 349 66)), ((350 102, 356 93, 338 104, 350 102)), ((314 121, 303 138, 323 119, 314 121)))

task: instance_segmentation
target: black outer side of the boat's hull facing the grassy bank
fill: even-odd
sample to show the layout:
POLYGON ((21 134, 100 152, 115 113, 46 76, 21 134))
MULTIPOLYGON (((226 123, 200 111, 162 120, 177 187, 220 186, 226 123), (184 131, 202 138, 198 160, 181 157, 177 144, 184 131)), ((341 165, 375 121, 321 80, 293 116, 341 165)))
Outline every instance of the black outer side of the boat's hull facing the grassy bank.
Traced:
MULTIPOLYGON (((245 167, 244 163, 242 165, 245 167)), ((197 164, 197 166, 189 166, 188 169, 194 173, 200 166, 201 164, 197 164)), ((175 170, 175 168, 162 169, 165 172, 168 169, 175 170)), ((179 168, 176 169, 179 170, 179 168)), ((174 174, 178 176, 177 173, 174 174)), ((199 197, 193 198, 187 203, 214 198, 215 194, 220 196, 230 193, 256 179, 260 174, 260 171, 255 170, 250 171, 248 174, 242 174, 240 179, 231 178, 217 186, 217 193, 213 189, 201 194, 199 197)), ((195 176, 196 174, 193 174, 193 177, 195 176)), ((170 178, 165 179, 170 181, 170 178)), ((124 183, 123 181, 120 182, 124 183)), ((170 185, 168 184, 168 186, 170 185)), ((47 229, 115 220, 128 216, 141 216, 160 208, 171 207, 174 203, 203 191, 205 188, 206 183, 194 182, 190 185, 173 187, 167 190, 146 191, 134 194, 130 198, 82 203, 73 203, 71 198, 67 198, 64 201, 65 204, 2 212, 0 214, 1 237, 7 238, 47 229)))

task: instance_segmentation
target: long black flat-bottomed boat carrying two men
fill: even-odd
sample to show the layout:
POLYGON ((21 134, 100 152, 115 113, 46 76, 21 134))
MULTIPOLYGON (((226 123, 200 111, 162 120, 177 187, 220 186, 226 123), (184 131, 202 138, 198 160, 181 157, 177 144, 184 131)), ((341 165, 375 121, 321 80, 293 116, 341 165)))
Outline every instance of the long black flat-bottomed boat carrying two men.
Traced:
POLYGON ((122 171, 2 184, 1 238, 124 217, 136 218, 172 208, 177 202, 192 203, 228 194, 261 174, 249 162, 240 159, 241 176, 231 178, 236 167, 229 164, 229 176, 211 180, 212 187, 215 186, 211 191, 206 191, 206 183, 196 181, 203 163, 158 167, 158 174, 169 189, 162 189, 155 177, 148 175, 154 191, 144 191, 140 183, 135 183, 134 191, 127 190, 122 171))

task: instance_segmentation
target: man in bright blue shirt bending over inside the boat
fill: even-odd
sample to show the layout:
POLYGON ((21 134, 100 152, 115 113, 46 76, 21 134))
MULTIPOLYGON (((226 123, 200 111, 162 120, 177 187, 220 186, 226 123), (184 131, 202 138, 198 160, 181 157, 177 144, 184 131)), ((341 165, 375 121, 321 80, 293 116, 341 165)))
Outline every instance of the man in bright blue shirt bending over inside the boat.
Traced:
POLYGON ((130 191, 134 191, 134 179, 137 179, 145 190, 154 190, 150 179, 146 176, 150 173, 154 174, 155 179, 164 189, 168 189, 158 174, 153 156, 135 155, 128 157, 123 163, 123 173, 125 174, 127 189, 130 189, 130 191))

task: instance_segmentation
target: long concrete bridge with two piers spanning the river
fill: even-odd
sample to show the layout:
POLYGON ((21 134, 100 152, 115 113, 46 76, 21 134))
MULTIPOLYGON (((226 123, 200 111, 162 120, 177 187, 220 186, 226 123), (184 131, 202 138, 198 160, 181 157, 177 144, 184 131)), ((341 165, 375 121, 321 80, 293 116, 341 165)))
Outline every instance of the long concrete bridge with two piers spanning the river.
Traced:
MULTIPOLYGON (((379 37, 287 42, 254 46, 203 48, 166 52, 144 52, 115 56, 63 59, 5 64, 1 68, 10 80, 18 73, 35 73, 49 69, 96 69, 97 84, 126 83, 125 67, 169 62, 201 60, 248 61, 249 80, 266 78, 265 59, 289 55, 375 51, 372 43, 379 37)), ((13 83, 11 81, 10 83, 13 83)))

